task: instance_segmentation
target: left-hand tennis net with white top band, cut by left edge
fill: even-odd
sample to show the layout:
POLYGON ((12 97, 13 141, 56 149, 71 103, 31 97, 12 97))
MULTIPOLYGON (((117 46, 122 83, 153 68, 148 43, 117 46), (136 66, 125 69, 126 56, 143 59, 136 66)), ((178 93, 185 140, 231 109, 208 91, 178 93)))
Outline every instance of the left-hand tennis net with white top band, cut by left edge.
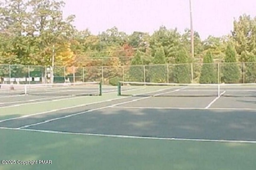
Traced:
POLYGON ((101 96, 100 82, 60 84, 0 84, 0 95, 101 96))

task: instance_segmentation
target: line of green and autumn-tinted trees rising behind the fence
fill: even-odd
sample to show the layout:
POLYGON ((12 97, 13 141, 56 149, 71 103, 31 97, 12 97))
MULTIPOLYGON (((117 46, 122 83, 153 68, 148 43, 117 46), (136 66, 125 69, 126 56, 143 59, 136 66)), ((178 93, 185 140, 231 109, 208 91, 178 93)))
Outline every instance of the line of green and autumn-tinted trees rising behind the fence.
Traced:
MULTIPOLYGON (((152 35, 134 31, 128 35, 112 27, 93 35, 89 29, 79 31, 72 24, 75 16, 64 19, 60 0, 6 0, 0 2, 0 64, 46 65, 55 56, 56 66, 121 66, 141 64, 182 64, 255 62, 256 18, 243 14, 234 20, 230 34, 209 36, 202 40, 194 33, 194 54, 190 56, 190 30, 160 26, 152 35)), ((216 25, 218 26, 218 25, 216 25)), ((214 29, 214 28, 213 28, 214 29)), ((241 69, 237 64, 223 68, 225 82, 241 69), (225 72, 225 71, 224 71, 225 72)), ((250 66, 252 74, 255 66, 250 66)), ((156 74, 161 70, 152 68, 156 74)), ((188 82, 187 67, 176 66, 176 82, 188 82), (184 74, 184 75, 180 75, 184 74), (184 77, 184 78, 182 78, 184 77)), ((200 82, 216 82, 212 66, 202 67, 200 82), (210 70, 210 71, 209 71, 210 70), (213 76, 214 75, 214 76, 213 76)), ((137 70, 130 70, 135 74, 137 70)), ((154 80, 157 76, 153 76, 154 80)), ((237 77, 237 76, 234 76, 237 77)), ((253 77, 253 76, 251 76, 253 77)), ((161 79, 161 78, 158 78, 161 79)), ((162 80, 157 80, 162 81, 162 80)))

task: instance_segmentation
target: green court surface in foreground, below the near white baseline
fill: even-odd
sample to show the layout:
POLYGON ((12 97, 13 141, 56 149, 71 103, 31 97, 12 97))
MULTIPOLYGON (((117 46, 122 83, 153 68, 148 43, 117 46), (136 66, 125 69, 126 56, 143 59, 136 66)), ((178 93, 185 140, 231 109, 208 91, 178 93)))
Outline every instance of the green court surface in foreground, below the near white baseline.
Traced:
POLYGON ((0 130, 0 158, 52 160, 1 165, 0 170, 255 170, 256 145, 120 139, 0 130), (4 139, 4 140, 3 140, 4 139))

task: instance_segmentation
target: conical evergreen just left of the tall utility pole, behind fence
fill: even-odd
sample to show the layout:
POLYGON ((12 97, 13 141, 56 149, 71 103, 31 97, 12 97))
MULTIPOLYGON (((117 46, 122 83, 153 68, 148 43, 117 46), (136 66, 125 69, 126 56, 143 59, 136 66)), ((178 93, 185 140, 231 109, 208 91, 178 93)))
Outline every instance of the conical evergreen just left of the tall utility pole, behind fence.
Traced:
POLYGON ((190 83, 190 75, 188 54, 184 48, 180 48, 180 50, 175 54, 173 80, 175 83, 190 83))

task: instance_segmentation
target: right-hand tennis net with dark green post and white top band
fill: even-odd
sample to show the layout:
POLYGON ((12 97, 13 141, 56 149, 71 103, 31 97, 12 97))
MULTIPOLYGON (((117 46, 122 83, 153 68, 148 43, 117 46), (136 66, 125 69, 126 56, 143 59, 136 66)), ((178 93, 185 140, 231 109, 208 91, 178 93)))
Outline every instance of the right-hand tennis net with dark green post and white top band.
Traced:
POLYGON ((256 84, 177 84, 119 82, 118 96, 256 97, 256 84), (134 90, 125 90, 126 87, 134 90), (138 90, 136 90, 138 88, 138 90))

